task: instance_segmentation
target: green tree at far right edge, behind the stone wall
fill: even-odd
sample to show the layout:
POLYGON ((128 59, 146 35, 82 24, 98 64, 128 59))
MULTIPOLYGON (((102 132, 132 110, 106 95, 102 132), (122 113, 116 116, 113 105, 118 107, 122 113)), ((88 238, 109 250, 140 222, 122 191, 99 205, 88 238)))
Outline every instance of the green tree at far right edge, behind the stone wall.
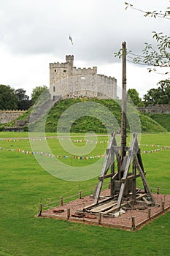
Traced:
POLYGON ((144 95, 144 105, 170 104, 170 80, 161 80, 158 89, 150 89, 144 95))

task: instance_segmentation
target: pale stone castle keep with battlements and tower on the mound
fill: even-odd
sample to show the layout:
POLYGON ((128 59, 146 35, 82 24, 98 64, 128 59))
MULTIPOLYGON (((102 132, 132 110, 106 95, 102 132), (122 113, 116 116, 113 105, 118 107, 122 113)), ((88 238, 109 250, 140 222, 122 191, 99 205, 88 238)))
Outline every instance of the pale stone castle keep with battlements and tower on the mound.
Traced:
POLYGON ((50 63, 50 94, 52 99, 116 99, 117 80, 106 75, 98 75, 97 67, 77 69, 74 67, 74 56, 67 55, 64 63, 50 63))

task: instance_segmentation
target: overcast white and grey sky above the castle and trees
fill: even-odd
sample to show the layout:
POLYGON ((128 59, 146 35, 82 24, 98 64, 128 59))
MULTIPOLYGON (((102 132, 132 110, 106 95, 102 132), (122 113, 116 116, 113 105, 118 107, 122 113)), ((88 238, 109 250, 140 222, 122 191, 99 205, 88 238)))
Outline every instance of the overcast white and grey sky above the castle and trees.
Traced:
MULTIPOLYGON (((63 62, 67 54, 74 54, 75 67, 97 66, 99 74, 117 78, 121 86, 121 63, 113 53, 123 41, 128 50, 141 53, 144 42, 152 42, 152 31, 169 34, 170 24, 125 10, 124 2, 0 0, 0 84, 26 89, 30 95, 36 86, 49 86, 50 62, 63 62)), ((146 11, 166 10, 170 5, 169 0, 128 2, 146 11)), ((136 89, 140 97, 165 78, 127 63, 127 89, 136 89)))

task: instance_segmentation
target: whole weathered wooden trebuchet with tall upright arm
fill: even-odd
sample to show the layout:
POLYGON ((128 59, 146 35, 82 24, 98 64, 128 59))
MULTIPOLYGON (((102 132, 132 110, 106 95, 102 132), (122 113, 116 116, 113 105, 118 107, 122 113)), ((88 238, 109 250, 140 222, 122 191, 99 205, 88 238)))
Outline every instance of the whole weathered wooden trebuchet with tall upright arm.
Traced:
POLYGON ((133 202, 144 197, 149 198, 154 206, 155 201, 152 192, 145 178, 144 165, 140 154, 137 134, 134 133, 131 146, 126 146, 126 43, 122 44, 123 50, 123 76, 122 76, 122 116, 121 116, 121 145, 117 146, 115 132, 112 133, 109 146, 107 148, 104 165, 101 170, 101 176, 98 177, 98 184, 93 193, 93 204, 86 207, 86 210, 109 213, 116 211, 128 202, 133 202), (128 154, 127 154, 128 153, 128 154), (117 162, 117 170, 115 170, 117 162), (130 171, 132 165, 132 170, 130 171), (137 173, 138 172, 138 173, 137 173), (141 178, 144 186, 144 193, 139 193, 136 188, 136 178, 141 178), (110 178, 110 195, 106 200, 101 199, 101 188, 105 178, 110 178), (126 203, 125 203, 126 202, 126 203))

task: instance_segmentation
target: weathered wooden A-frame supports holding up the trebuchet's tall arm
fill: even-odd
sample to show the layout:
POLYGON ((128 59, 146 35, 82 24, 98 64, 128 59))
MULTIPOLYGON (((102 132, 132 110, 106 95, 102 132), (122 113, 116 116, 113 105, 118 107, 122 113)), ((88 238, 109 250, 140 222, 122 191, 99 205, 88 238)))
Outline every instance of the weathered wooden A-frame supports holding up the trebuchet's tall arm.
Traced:
POLYGON ((130 147, 125 148, 128 151, 128 155, 123 157, 123 161, 120 161, 120 147, 117 146, 115 139, 115 133, 112 134, 109 142, 109 148, 107 148, 107 154, 104 159, 104 165, 101 170, 101 176, 98 177, 98 185, 96 192, 94 193, 93 206, 98 205, 100 198, 102 184, 105 178, 110 178, 110 198, 115 201, 115 182, 120 184, 120 191, 118 192, 116 209, 124 205, 124 199, 131 197, 131 200, 135 201, 136 198, 136 178, 141 178, 144 186, 144 191, 148 197, 150 197, 152 205, 155 205, 152 192, 147 184, 145 178, 144 165, 142 163, 142 157, 140 154, 139 144, 137 141, 137 134, 134 133, 130 147), (115 170, 115 160, 117 159, 117 171, 115 170), (132 165, 132 173, 130 173, 130 167, 132 165), (107 174, 110 167, 110 173, 107 174), (137 173, 138 171, 138 173, 137 173), (123 172, 123 176, 122 176, 123 172), (127 194, 129 190, 129 195, 127 194), (130 195, 131 194, 131 195, 130 195))

